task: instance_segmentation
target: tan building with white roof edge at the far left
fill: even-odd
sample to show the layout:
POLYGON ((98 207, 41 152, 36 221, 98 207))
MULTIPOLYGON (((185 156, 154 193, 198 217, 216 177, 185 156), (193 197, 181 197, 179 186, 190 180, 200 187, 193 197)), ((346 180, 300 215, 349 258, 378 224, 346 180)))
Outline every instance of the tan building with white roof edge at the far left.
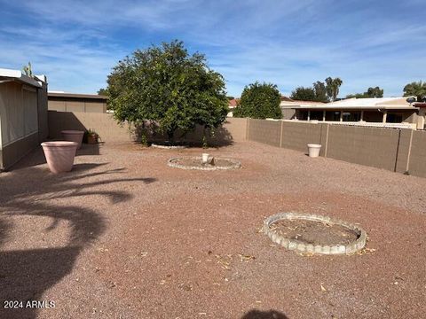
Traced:
POLYGON ((46 77, 0 68, 0 170, 11 167, 48 134, 46 77))

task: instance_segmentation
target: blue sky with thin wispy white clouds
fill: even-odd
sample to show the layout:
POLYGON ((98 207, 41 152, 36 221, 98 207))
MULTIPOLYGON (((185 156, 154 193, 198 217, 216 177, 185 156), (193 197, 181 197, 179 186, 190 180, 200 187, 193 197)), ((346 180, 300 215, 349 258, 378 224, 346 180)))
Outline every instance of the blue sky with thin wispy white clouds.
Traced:
POLYGON ((401 96, 426 80, 424 0, 0 0, 0 67, 31 61, 49 89, 94 93, 135 49, 179 39, 223 74, 229 95, 250 82, 281 93, 327 76, 340 96, 380 86, 401 96))

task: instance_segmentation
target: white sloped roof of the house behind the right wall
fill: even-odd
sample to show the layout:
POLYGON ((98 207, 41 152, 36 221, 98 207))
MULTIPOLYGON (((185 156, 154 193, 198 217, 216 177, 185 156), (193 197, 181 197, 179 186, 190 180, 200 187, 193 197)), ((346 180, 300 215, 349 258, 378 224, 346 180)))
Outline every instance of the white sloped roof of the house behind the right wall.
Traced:
POLYGON ((327 104, 300 105, 301 109, 416 109, 414 105, 406 102, 406 97, 372 97, 372 98, 347 98, 327 104))

